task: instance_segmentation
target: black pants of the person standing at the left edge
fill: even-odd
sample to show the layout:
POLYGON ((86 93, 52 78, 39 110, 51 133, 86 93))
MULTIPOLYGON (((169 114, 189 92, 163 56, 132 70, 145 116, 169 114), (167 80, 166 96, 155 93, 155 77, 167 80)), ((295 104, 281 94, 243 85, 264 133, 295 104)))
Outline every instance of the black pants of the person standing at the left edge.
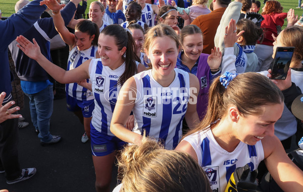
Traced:
POLYGON ((14 180, 22 173, 18 160, 18 141, 18 119, 0 123, 0 170, 5 170, 7 180, 14 180))

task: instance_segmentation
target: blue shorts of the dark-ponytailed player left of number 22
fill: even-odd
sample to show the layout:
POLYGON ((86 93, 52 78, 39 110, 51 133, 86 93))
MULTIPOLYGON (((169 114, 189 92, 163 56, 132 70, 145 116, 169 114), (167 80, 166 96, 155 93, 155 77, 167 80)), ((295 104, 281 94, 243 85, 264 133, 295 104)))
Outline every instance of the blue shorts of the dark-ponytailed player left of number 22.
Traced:
POLYGON ((127 143, 116 136, 109 136, 98 132, 90 123, 90 146, 93 156, 102 157, 123 149, 127 143))

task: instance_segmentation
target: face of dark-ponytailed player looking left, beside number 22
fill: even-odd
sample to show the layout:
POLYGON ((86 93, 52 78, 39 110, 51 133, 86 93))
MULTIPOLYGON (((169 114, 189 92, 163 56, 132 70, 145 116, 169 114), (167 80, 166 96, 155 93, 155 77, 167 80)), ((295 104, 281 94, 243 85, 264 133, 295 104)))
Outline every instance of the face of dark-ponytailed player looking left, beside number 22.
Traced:
POLYGON ((113 36, 100 33, 98 39, 98 54, 100 55, 103 66, 108 66, 112 70, 119 68, 123 62, 122 55, 125 50, 126 47, 118 50, 116 39, 113 36))

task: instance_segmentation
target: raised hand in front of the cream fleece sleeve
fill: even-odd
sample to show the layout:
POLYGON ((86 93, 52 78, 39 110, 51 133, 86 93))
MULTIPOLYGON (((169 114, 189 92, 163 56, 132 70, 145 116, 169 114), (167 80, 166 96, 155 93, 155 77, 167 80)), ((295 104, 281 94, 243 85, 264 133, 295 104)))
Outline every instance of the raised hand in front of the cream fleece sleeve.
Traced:
POLYGON ((225 34, 224 34, 224 44, 225 47, 233 47, 237 39, 244 33, 244 31, 240 31, 237 34, 236 28, 236 20, 231 19, 228 26, 225 27, 225 34))

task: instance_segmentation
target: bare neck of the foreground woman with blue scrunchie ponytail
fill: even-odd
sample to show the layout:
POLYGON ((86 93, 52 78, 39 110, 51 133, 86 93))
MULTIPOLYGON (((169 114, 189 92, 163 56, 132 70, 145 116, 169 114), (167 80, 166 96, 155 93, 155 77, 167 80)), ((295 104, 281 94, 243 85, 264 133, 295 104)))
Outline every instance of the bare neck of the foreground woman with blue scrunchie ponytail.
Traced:
POLYGON ((226 118, 212 128, 212 133, 220 147, 228 152, 233 152, 240 142, 233 134, 232 123, 226 118))

